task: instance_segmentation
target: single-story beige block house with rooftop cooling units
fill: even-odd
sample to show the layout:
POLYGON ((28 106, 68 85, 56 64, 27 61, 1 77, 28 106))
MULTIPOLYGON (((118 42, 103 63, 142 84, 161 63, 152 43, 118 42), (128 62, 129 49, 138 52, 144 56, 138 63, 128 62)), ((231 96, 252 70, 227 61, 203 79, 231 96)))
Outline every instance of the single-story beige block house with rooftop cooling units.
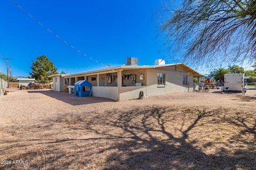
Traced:
POLYGON ((165 64, 162 61, 159 59, 155 65, 139 66, 138 58, 135 58, 135 64, 133 58, 129 58, 126 65, 50 77, 53 77, 55 91, 63 91, 65 84, 74 89, 75 82, 87 80, 92 83, 92 96, 122 100, 138 98, 140 91, 145 97, 193 91, 193 78, 199 81, 200 77, 205 76, 186 64, 165 64))

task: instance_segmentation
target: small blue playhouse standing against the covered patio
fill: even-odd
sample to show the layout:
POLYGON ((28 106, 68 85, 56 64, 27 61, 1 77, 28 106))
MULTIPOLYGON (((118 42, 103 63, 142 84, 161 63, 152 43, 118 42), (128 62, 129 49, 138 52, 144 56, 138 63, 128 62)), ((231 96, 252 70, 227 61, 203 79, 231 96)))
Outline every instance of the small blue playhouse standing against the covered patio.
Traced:
POLYGON ((74 95, 77 97, 90 96, 92 84, 86 80, 79 80, 74 84, 74 95))

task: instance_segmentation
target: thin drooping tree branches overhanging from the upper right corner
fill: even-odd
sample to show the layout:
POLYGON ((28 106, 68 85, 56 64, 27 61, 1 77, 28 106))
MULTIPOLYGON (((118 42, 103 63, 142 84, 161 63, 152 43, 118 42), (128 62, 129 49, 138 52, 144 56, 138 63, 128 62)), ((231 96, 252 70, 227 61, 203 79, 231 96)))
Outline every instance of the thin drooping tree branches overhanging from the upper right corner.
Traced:
POLYGON ((256 58, 256 0, 180 2, 164 4, 160 27, 171 49, 185 50, 185 60, 234 63, 256 58))

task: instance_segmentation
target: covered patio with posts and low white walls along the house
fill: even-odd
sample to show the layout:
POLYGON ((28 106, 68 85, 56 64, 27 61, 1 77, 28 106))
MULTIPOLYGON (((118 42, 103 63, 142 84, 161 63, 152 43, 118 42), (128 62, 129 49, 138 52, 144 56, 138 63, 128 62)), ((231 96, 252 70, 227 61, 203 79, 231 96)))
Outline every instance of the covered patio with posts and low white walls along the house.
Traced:
POLYGON ((146 69, 113 69, 97 73, 63 75, 63 81, 73 93, 74 83, 87 80, 92 83, 93 96, 119 100, 119 94, 145 88, 147 86, 146 75, 146 69))

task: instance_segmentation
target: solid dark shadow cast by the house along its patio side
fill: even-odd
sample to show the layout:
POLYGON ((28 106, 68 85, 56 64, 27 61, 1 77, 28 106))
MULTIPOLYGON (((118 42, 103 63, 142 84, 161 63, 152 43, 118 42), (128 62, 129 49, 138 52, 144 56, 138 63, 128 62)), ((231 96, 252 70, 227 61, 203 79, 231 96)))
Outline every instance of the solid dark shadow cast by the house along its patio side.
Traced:
POLYGON ((73 106, 103 102, 115 102, 115 100, 101 97, 75 97, 74 94, 68 94, 67 92, 59 92, 53 90, 28 90, 28 93, 40 93, 73 106))

